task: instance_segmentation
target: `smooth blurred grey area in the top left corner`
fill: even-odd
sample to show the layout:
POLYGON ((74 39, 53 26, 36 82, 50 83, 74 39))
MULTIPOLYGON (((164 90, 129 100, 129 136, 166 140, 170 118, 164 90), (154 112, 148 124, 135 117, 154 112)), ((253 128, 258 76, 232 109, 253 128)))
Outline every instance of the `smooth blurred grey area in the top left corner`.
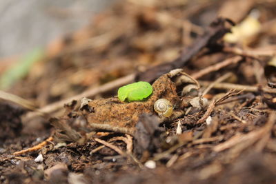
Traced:
POLYGON ((24 54, 87 25, 113 1, 1 0, 0 58, 24 54))

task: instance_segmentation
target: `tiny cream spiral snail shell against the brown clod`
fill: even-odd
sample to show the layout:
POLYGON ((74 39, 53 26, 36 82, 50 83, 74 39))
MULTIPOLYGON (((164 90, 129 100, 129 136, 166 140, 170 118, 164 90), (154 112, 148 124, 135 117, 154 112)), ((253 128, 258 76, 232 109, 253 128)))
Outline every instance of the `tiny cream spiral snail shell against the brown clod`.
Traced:
POLYGON ((159 116, 169 117, 172 115, 172 103, 167 99, 159 99, 155 101, 154 108, 159 116))

